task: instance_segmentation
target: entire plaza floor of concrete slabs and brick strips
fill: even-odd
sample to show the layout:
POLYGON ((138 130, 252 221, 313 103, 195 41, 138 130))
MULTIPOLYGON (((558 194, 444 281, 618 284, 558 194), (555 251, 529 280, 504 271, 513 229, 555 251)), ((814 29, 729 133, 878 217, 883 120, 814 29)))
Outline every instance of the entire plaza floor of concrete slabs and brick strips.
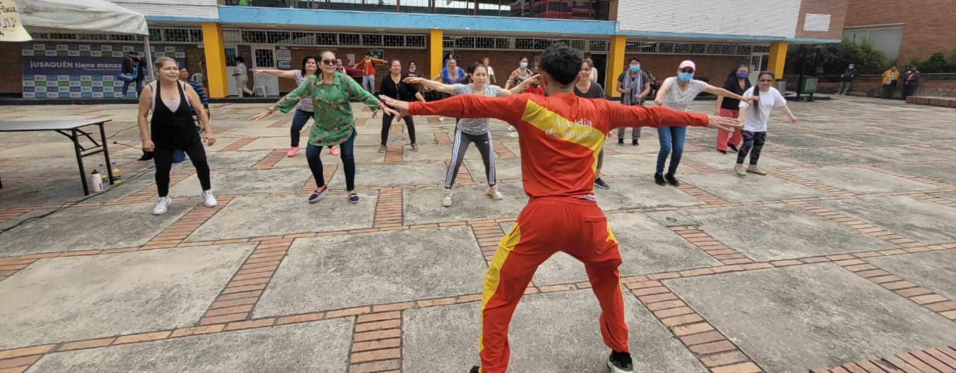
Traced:
MULTIPOLYGON (((712 112, 713 101, 692 110, 712 112)), ((606 145, 597 203, 619 239, 636 372, 956 372, 956 111, 835 97, 771 118, 760 164, 739 177, 712 130, 688 130, 680 187, 652 174, 657 132, 606 145)), ((151 215, 135 105, 3 106, 4 119, 109 118, 124 182, 84 198, 70 143, 0 135, 0 373, 464 373, 479 362, 482 280, 528 203, 520 146, 494 121, 505 199, 484 194, 468 150, 441 205, 454 121, 416 117, 421 150, 356 105, 356 184, 337 156, 331 193, 291 114, 213 104, 207 147, 219 205, 173 167, 151 215)), ((308 130, 303 131, 305 139, 308 130)), ((630 135, 628 133, 628 135, 630 135)), ((533 153, 533 151, 532 151, 533 153)), ((531 155, 533 156, 533 154, 531 155)), ((86 158, 86 170, 102 158, 86 158)), ((511 323, 516 373, 606 372, 584 266, 542 264, 511 323)))

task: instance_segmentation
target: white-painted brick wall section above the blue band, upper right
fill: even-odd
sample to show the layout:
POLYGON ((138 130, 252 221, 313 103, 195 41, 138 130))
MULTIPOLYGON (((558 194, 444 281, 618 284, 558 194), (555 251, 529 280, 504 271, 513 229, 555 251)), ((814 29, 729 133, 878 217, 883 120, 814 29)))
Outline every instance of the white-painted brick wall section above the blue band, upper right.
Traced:
POLYGON ((763 0, 759 3, 619 0, 618 29, 793 37, 800 3, 800 0, 763 0))

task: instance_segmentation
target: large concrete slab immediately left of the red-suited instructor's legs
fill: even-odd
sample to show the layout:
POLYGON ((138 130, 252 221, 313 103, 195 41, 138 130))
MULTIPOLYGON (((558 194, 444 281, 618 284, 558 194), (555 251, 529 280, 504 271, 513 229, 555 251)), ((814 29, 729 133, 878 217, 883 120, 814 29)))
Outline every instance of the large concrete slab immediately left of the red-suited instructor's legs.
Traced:
POLYGON ((486 270, 466 226, 298 238, 253 314, 477 294, 486 270))

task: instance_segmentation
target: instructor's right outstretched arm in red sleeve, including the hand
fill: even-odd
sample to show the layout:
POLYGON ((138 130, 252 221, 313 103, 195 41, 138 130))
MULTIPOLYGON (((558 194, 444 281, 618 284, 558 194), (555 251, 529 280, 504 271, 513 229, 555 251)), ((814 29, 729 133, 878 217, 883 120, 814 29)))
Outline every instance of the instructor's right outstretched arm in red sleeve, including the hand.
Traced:
POLYGON ((695 126, 730 131, 742 128, 740 121, 718 115, 688 113, 663 106, 625 106, 603 103, 605 121, 616 127, 671 127, 695 126))

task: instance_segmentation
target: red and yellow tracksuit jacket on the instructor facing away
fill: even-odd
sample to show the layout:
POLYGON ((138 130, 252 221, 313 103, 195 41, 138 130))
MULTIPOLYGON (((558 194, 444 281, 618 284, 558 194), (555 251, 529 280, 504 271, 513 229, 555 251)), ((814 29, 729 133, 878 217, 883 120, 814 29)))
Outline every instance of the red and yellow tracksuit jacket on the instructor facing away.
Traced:
POLYGON ((608 132, 618 127, 706 127, 707 115, 660 106, 625 106, 574 93, 506 97, 460 94, 432 102, 410 102, 412 115, 491 117, 518 130, 521 177, 528 197, 586 197, 594 193, 597 155, 608 132))

